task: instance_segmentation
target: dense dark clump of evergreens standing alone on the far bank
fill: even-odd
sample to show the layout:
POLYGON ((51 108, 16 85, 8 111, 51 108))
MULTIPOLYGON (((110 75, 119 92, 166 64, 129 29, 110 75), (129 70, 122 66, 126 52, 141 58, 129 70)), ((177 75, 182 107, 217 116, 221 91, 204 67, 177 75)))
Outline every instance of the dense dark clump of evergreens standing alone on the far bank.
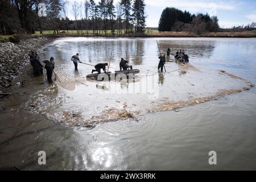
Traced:
POLYGON ((164 31, 191 31, 196 34, 203 32, 216 32, 219 30, 217 16, 210 17, 208 14, 191 14, 189 11, 181 11, 174 7, 163 10, 158 30, 164 31))

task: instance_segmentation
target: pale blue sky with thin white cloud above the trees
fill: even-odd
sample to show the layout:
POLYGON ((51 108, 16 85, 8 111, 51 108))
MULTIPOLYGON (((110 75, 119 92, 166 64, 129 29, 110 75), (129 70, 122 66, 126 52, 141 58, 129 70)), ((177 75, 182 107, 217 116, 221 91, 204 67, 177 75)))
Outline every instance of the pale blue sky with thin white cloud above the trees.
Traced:
MULTIPOLYGON (((78 3, 84 1, 76 0, 78 3)), ((120 0, 114 0, 114 5, 118 1, 120 0)), ((68 5, 68 17, 71 19, 74 19, 71 11, 73 2, 75 0, 69 0, 68 5)), ((145 0, 145 3, 147 27, 158 27, 160 15, 166 7, 187 10, 192 14, 217 15, 221 28, 231 28, 256 22, 256 0, 145 0)), ((84 15, 82 16, 84 17, 84 15)))

